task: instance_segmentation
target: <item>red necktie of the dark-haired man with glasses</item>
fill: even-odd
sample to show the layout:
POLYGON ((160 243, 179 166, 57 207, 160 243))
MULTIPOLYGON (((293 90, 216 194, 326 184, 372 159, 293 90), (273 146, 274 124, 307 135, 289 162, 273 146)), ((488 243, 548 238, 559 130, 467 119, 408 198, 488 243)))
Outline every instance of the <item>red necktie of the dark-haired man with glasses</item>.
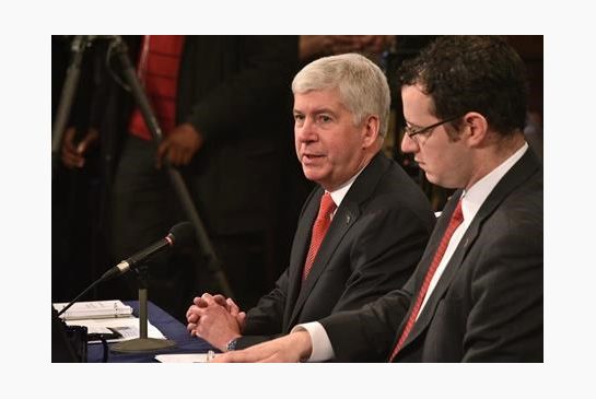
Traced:
POLYGON ((410 314, 410 317, 408 318, 408 322, 406 324, 406 327, 404 328, 404 331, 401 332, 401 336, 399 337, 399 340, 397 341, 397 344, 395 345, 395 349, 392 352, 389 362, 393 362, 395 355, 397 354, 397 352, 399 352, 399 350, 404 345, 404 342, 406 342, 406 338, 408 338, 410 331, 412 330, 418 313, 420 312, 420 306, 422 306, 422 302, 424 301, 424 296, 426 295, 426 291, 429 290, 429 285, 434 275, 434 272, 436 271, 439 263, 441 263, 441 259, 443 259, 443 255, 445 255, 445 250, 447 249, 447 245, 449 244, 449 240, 452 239, 453 232, 455 232, 455 230, 461 224, 463 221, 464 221, 464 214, 461 213, 461 199, 459 199, 459 202, 457 202, 457 207, 455 208, 455 211, 452 214, 449 224, 447 225, 447 230, 445 231, 443 238, 441 238, 439 248, 436 248, 436 253, 434 254, 434 258, 431 263, 431 267, 429 268, 429 271, 426 271, 426 275, 424 277, 424 281, 422 282, 420 292, 418 293, 418 296, 416 297, 416 303, 412 307, 412 313, 410 314))

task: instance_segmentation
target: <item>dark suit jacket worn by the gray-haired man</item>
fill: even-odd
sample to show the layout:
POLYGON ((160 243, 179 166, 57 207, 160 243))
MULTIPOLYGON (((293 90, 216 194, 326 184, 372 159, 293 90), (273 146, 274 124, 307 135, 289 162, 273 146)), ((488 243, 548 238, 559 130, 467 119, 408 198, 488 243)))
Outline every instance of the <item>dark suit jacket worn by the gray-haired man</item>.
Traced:
POLYGON ((252 337, 243 337, 237 348, 287 333, 296 324, 359 308, 401 287, 418 263, 434 215, 412 179, 379 153, 337 209, 303 284, 302 269, 323 193, 316 188, 306 200, 290 267, 248 313, 243 333, 252 337))

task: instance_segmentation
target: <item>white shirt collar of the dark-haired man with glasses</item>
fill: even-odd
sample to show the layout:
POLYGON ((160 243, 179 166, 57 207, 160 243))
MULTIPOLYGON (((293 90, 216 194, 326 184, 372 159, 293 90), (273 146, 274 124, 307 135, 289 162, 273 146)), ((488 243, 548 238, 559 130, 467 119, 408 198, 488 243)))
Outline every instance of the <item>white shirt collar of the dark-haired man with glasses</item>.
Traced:
MULTIPOLYGON (((501 165, 496 166, 487 176, 476 181, 469 190, 465 191, 461 196, 461 212, 464 213, 464 231, 470 225, 470 222, 478 213, 478 210, 484 203, 487 197, 491 193, 496 184, 505 176, 505 174, 515 165, 517 161, 526 153, 528 144, 524 143, 519 150, 513 155, 503 161, 501 165)), ((335 200, 335 199, 334 199, 335 200)))

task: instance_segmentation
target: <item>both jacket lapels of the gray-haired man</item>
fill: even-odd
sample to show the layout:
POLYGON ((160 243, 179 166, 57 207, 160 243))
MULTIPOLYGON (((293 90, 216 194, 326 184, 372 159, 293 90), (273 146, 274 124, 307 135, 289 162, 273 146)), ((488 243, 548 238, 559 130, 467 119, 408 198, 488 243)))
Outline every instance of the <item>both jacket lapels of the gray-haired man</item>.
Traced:
POLYGON ((294 289, 300 291, 300 293, 292 308, 291 317, 289 318, 285 326, 294 325, 302 310, 302 307, 304 306, 306 298, 316 286, 320 274, 329 263, 337 247, 342 243, 346 233, 348 233, 348 231, 355 224, 355 222, 360 218, 361 204, 371 197, 384 171, 386 171, 388 167, 389 161, 379 153, 373 157, 370 164, 354 180, 352 187, 350 187, 350 190, 348 191, 340 207, 338 208, 334 220, 331 221, 331 225, 329 226, 329 230, 327 231, 327 234, 323 239, 318 254, 313 263, 313 268, 308 273, 308 278, 306 279, 306 281, 304 281, 304 283, 302 283, 302 268, 304 267, 304 258, 306 256, 306 251, 308 250, 308 245, 311 240, 311 228, 316 218, 316 213, 318 212, 317 207, 320 197, 323 196, 323 190, 320 190, 320 192, 316 197, 318 198, 315 207, 317 209, 314 212, 314 216, 309 220, 309 226, 306 233, 306 236, 308 237, 306 239, 307 243, 305 245, 305 249, 302 251, 302 257, 300 258, 300 267, 294 268, 297 275, 295 279, 293 279, 293 282, 295 282, 295 285, 293 286, 294 289))

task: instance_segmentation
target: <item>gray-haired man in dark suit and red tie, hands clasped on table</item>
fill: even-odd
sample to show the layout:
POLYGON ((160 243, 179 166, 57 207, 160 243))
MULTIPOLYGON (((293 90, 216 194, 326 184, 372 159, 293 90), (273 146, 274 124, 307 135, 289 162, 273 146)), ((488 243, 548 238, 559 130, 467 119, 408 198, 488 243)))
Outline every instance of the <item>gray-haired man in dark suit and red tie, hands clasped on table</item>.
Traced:
POLYGON ((408 280, 434 226, 430 203, 381 152, 389 87, 357 54, 325 57, 292 82, 299 162, 316 187, 302 209, 290 266, 248 313, 203 294, 188 330, 222 351, 288 333, 296 324, 361 306, 408 280))

